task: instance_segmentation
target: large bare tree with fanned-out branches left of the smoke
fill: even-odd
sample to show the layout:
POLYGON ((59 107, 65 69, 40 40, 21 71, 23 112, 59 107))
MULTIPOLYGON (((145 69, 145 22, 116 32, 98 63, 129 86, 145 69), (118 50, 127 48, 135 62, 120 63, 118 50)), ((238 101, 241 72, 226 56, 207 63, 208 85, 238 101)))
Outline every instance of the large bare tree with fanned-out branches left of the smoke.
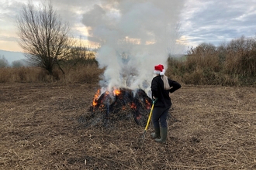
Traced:
POLYGON ((61 21, 50 1, 37 8, 32 2, 23 5, 17 27, 19 46, 24 49, 29 63, 48 70, 51 75, 54 66, 64 73, 60 62, 70 55, 70 28, 61 21))

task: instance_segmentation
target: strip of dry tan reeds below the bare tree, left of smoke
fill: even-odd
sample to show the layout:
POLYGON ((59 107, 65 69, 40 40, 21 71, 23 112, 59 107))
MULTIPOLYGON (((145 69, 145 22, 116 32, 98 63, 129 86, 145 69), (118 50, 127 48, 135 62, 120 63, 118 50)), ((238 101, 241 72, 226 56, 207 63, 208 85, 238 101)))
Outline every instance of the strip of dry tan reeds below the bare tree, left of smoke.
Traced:
POLYGON ((78 65, 66 74, 55 69, 53 70, 54 76, 50 76, 47 70, 40 67, 8 67, 0 68, 0 83, 98 83, 102 72, 103 70, 99 69, 97 64, 78 65))

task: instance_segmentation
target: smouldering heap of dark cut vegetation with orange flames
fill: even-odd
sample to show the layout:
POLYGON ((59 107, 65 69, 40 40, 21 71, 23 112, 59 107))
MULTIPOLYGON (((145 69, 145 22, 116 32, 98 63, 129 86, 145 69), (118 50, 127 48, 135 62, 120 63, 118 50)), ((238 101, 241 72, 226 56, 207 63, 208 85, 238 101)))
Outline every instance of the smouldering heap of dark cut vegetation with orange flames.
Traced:
POLYGON ((81 115, 78 119, 80 123, 85 124, 85 127, 98 124, 108 128, 120 120, 130 120, 131 118, 141 126, 147 124, 152 100, 144 90, 120 88, 112 90, 112 92, 100 93, 98 90, 95 94, 87 114, 81 115))

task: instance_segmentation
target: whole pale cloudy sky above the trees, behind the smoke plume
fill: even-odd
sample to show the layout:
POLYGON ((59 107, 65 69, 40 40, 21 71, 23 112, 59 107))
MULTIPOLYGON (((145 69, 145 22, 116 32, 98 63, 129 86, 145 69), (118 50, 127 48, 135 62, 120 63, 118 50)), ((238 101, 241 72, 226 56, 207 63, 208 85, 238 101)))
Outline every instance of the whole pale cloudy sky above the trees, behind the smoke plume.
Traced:
MULTIPOLYGON (((0 0, 0 49, 22 51, 17 43, 15 24, 16 16, 19 15, 22 5, 27 2, 27 0, 0 0)), ((38 2, 41 1, 33 0, 35 4, 38 2)), ((152 27, 159 32, 161 32, 160 27, 154 25, 157 25, 157 21, 161 19, 170 19, 168 24, 180 23, 179 35, 176 36, 175 41, 185 44, 185 48, 198 46, 201 42, 213 43, 218 46, 222 42, 229 42, 231 39, 243 35, 246 37, 256 35, 256 0, 170 0, 168 4, 164 4, 164 2, 166 1, 52 0, 54 8, 61 15, 61 18, 70 23, 71 34, 77 38, 81 36, 81 39, 89 39, 91 42, 99 42, 99 39, 104 38, 106 34, 112 33, 100 33, 99 23, 109 23, 107 26, 109 29, 111 24, 116 24, 116 20, 120 17, 120 11, 126 12, 126 17, 122 18, 123 22, 118 23, 119 30, 123 26, 119 34, 123 36, 127 34, 130 37, 138 36, 140 31, 137 31, 138 27, 134 26, 136 22, 131 21, 137 19, 137 11, 131 12, 129 8, 140 8, 140 11, 145 11, 145 15, 141 16, 139 20, 143 21, 144 26, 152 27), (120 5, 117 2, 123 3, 120 5), (144 7, 141 9, 140 5, 134 5, 134 3, 139 2, 158 2, 163 6, 156 7, 154 10, 150 8, 150 5, 147 5, 147 8, 150 8, 150 12, 147 12, 144 7), (163 17, 157 8, 165 10, 166 17, 163 17), (154 24, 151 23, 150 25, 148 22, 144 22, 146 20, 148 22, 154 21, 154 24), (88 30, 87 28, 91 29, 88 30)), ((161 28, 164 28, 163 23, 159 24, 161 28)), ((166 31, 167 29, 168 26, 165 26, 163 30, 166 31)), ((169 29, 175 29, 175 27, 170 26, 169 29)), ((168 35, 168 37, 175 39, 174 36, 168 35)), ((143 36, 140 39, 143 39, 143 36)), ((149 39, 144 40, 150 41, 149 39)))

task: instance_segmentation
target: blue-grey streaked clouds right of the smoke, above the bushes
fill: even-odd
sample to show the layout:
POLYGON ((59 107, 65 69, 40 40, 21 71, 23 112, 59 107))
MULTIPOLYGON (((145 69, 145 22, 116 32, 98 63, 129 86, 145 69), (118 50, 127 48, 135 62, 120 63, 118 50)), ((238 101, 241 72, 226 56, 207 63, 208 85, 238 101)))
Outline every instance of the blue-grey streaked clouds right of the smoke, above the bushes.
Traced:
POLYGON ((251 15, 247 15, 251 5, 255 3, 255 0, 197 1, 194 11, 192 8, 184 10, 184 34, 192 42, 213 42, 216 46, 227 39, 255 35, 256 14, 251 12, 251 15))

